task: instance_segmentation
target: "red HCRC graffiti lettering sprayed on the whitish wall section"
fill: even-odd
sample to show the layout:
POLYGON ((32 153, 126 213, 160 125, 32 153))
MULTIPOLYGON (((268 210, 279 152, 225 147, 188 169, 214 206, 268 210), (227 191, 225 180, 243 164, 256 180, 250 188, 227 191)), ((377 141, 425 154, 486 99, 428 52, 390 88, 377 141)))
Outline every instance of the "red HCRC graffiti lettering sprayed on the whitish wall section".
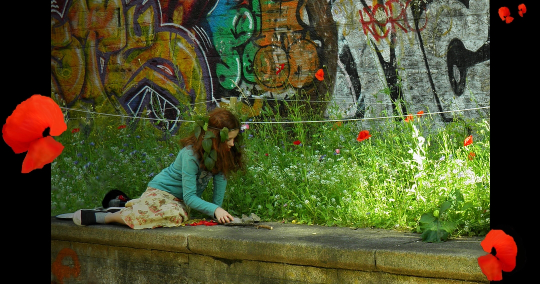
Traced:
MULTIPOLYGON (((397 29, 401 29, 403 32, 417 31, 407 21, 407 8, 410 4, 410 0, 404 5, 399 0, 389 0, 384 5, 375 4, 372 6, 364 7, 359 10, 360 22, 362 23, 362 29, 365 35, 368 32, 373 35, 375 40, 388 37, 388 33, 391 31, 395 33, 397 29), (363 11, 363 12, 362 12, 363 11), (364 19, 364 15, 369 18, 368 21, 364 19), (405 23, 408 27, 405 28, 402 23, 405 23)), ((423 30, 427 25, 428 18, 426 16, 426 23, 419 28, 419 31, 423 30)))

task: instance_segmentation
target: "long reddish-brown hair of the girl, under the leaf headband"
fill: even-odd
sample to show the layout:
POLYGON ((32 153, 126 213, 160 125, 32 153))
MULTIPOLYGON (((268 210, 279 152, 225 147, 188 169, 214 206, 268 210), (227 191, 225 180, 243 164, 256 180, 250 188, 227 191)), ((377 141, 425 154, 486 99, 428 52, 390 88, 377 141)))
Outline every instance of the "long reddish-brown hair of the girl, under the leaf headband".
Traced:
MULTIPOLYGON (((222 109, 220 107, 212 110, 210 113, 208 113, 208 116, 210 118, 208 119, 209 127, 207 131, 212 131, 215 137, 217 137, 211 138, 212 148, 218 154, 218 160, 215 162, 212 173, 216 174, 222 172, 227 177, 231 172, 236 172, 244 168, 240 145, 236 144, 236 141, 240 140, 238 139, 238 136, 240 136, 241 133, 238 133, 238 136, 235 139, 235 146, 229 149, 226 142, 221 142, 219 132, 221 129, 223 129, 223 127, 227 127, 227 129, 230 130, 240 129, 240 120, 231 111, 222 109)), ((199 167, 203 170, 207 170, 203 160, 203 137, 204 131, 198 138, 195 137, 195 133, 191 133, 190 136, 181 139, 180 144, 182 144, 184 147, 191 145, 193 152, 197 154, 199 159, 199 167)))

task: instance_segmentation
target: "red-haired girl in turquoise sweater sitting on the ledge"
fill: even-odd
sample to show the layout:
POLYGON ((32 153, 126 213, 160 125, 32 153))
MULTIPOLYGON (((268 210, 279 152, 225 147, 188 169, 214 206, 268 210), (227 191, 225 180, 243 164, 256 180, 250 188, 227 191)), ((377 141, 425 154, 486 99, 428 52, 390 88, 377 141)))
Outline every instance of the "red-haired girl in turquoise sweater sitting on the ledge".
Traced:
POLYGON ((226 177, 243 168, 240 147, 234 144, 234 140, 240 138, 240 120, 232 112, 221 108, 214 109, 208 115, 207 131, 199 127, 197 137, 195 132, 198 131, 194 131, 181 139, 184 148, 174 163, 149 182, 140 198, 130 200, 125 208, 114 213, 80 209, 73 214, 73 222, 80 226, 116 222, 133 229, 178 227, 190 219, 190 209, 205 213, 220 224, 231 222, 234 218, 221 208, 221 203, 227 186, 226 177), (208 131, 213 133, 214 137, 209 138, 211 140, 205 139, 212 137, 206 133, 208 131), (210 141, 212 153, 208 151, 210 141), (211 157, 215 158, 213 165, 211 160, 207 164, 211 157), (212 178, 212 202, 207 202, 201 196, 212 178))

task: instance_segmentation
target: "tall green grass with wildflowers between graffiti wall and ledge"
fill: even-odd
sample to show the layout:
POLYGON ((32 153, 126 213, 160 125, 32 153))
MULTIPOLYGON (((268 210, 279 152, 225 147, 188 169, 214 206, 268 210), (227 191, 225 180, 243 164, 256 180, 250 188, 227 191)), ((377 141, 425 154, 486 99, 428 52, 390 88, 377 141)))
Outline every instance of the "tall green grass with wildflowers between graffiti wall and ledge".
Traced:
MULTIPOLYGON (((287 107, 291 111, 280 116, 276 108, 265 106, 242 133, 246 172, 228 180, 223 202, 231 214, 255 213, 262 221, 419 231, 422 214, 453 201, 470 206, 441 215, 457 224, 451 235, 489 230, 487 121, 459 119, 440 126, 424 114, 409 123, 294 123, 321 117, 298 103, 287 107), (287 123, 259 124, 271 120, 287 123), (361 130, 369 130, 372 137, 357 141, 361 130), (464 147, 469 135, 474 143, 464 147), (296 140, 301 145, 294 145, 296 140), (475 153, 473 159, 468 158, 470 152, 475 153), (456 190, 463 200, 456 199, 456 190)), ((113 188, 139 197, 152 176, 174 161, 179 138, 193 129, 192 123, 184 123, 176 136, 162 139, 164 134, 148 120, 125 129, 118 129, 123 123, 116 118, 91 121, 70 124, 56 138, 65 148, 51 165, 51 215, 100 206, 113 188), (71 133, 73 127, 80 132, 71 133)), ((203 195, 206 200, 211 200, 209 192, 203 195)))

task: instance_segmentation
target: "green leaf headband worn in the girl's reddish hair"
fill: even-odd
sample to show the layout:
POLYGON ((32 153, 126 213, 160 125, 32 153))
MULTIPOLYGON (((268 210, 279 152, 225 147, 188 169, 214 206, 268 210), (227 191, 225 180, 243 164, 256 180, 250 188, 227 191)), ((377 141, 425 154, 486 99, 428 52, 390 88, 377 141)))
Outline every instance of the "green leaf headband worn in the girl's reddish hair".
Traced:
POLYGON ((204 165, 206 166, 206 169, 208 171, 212 171, 212 169, 215 166, 215 162, 218 161, 218 153, 212 149, 212 139, 216 138, 214 133, 212 131, 208 131, 208 128, 219 130, 219 136, 221 139, 221 142, 225 142, 229 138, 229 131, 234 131, 239 129, 240 127, 237 127, 235 129, 229 130, 227 127, 223 127, 222 129, 218 129, 215 127, 212 127, 208 125, 208 120, 210 117, 203 117, 203 116, 195 116, 195 127, 193 128, 193 132, 195 134, 195 138, 199 139, 203 130, 204 130, 204 137, 203 137, 203 161, 204 165))

